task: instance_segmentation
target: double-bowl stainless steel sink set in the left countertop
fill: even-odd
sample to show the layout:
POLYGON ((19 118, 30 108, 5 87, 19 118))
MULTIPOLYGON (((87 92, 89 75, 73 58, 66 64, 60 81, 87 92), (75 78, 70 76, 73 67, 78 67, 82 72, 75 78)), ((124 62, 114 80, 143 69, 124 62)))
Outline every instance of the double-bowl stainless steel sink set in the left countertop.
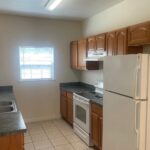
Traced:
POLYGON ((12 101, 0 101, 0 114, 17 112, 16 104, 12 101))

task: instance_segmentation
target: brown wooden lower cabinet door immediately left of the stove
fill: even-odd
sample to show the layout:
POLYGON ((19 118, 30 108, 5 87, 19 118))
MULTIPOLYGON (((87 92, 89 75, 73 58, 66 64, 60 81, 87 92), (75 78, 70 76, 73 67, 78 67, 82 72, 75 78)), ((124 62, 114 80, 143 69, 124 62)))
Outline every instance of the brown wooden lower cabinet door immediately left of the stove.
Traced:
POLYGON ((73 94, 67 92, 67 121, 73 125, 73 94))

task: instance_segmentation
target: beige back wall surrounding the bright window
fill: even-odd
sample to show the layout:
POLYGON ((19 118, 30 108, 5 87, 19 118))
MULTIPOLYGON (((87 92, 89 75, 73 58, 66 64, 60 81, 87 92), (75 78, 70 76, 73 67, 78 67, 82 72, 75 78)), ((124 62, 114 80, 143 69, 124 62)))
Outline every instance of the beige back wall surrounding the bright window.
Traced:
POLYGON ((81 23, 0 15, 0 85, 13 85, 26 121, 59 117, 59 83, 78 81, 70 69, 69 42, 81 37, 81 23), (19 81, 19 46, 54 46, 54 81, 19 81))

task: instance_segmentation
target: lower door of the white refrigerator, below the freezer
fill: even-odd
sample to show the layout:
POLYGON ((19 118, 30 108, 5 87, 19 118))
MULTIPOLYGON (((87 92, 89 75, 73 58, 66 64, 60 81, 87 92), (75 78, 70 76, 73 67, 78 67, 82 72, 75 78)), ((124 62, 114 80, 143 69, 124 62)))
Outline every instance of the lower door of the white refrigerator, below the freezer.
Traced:
POLYGON ((146 102, 104 93, 103 150, 145 150, 146 102))

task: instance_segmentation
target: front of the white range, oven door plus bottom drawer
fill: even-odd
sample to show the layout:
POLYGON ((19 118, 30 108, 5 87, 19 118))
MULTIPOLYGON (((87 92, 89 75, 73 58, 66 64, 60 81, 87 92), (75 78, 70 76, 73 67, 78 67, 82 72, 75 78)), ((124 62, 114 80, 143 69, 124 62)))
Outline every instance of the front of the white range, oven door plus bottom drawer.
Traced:
POLYGON ((90 100, 73 94, 74 131, 87 144, 90 142, 90 100))

